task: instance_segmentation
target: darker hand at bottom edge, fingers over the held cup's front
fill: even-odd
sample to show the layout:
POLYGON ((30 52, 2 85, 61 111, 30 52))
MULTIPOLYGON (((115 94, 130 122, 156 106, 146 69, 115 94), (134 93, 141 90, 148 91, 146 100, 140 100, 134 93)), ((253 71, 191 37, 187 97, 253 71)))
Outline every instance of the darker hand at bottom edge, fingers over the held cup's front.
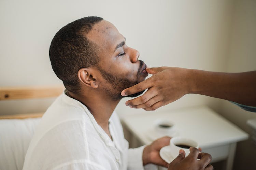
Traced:
POLYGON ((185 157, 185 152, 181 149, 178 157, 169 164, 168 170, 213 170, 211 160, 211 155, 199 153, 199 150, 193 147, 190 148, 189 155, 185 157))

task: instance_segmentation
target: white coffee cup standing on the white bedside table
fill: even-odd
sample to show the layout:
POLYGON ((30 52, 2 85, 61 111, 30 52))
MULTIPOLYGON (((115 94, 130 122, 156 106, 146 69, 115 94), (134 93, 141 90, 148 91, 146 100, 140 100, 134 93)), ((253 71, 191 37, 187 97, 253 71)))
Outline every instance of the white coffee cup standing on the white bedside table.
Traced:
POLYGON ((165 119, 157 119, 154 123, 155 130, 159 135, 172 135, 176 132, 176 128, 173 122, 165 119))

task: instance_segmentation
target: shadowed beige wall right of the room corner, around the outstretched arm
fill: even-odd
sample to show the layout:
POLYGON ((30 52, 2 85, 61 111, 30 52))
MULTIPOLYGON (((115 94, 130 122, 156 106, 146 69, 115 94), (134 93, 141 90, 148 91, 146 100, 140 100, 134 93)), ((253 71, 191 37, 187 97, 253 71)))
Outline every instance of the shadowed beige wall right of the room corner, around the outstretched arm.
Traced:
MULTIPOLYGON (((232 15, 227 72, 256 70, 256 1, 236 0, 232 15)), ((255 87, 256 88, 256 87, 255 87)), ((239 126, 251 136, 251 129, 246 121, 256 118, 256 114, 238 109, 228 101, 221 102, 220 112, 225 118, 239 126)), ((251 138, 239 142, 234 160, 234 170, 256 169, 256 146, 251 138)))

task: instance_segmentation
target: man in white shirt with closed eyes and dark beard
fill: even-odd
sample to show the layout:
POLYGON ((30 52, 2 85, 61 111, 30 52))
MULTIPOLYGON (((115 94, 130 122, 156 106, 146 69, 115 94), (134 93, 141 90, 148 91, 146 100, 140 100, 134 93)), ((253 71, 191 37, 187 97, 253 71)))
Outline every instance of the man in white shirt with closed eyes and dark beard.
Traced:
MULTIPOLYGON (((168 166, 159 150, 169 144, 169 137, 128 151, 114 109, 122 98, 120 92, 148 74, 145 63, 138 60, 139 52, 125 44, 113 24, 100 17, 69 23, 54 36, 49 54, 66 90, 42 117, 24 170, 136 170, 150 163, 168 166)), ((195 164, 209 168, 211 156, 192 150, 196 157, 208 158, 195 164)), ((180 155, 184 158, 183 152, 180 155)), ((173 166, 179 167, 180 161, 173 166)))

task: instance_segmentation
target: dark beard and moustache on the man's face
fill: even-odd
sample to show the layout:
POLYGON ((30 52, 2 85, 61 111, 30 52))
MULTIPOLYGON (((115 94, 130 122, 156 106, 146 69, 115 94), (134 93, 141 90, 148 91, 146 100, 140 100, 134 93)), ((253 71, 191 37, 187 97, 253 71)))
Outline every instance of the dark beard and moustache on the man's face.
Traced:
POLYGON ((121 95, 122 90, 140 83, 139 76, 141 74, 144 62, 142 60, 139 60, 139 62, 140 62, 140 66, 139 66, 139 69, 138 69, 138 72, 136 75, 136 79, 133 81, 131 81, 127 78, 123 78, 123 77, 116 77, 113 74, 109 74, 105 70, 99 68, 99 71, 102 74, 102 77, 112 86, 111 88, 104 87, 104 90, 106 91, 106 93, 112 100, 114 100, 114 101, 120 100, 123 97, 136 97, 136 96, 141 95, 145 91, 145 90, 143 90, 141 92, 138 92, 138 93, 135 93, 132 95, 128 95, 128 96, 121 95))

